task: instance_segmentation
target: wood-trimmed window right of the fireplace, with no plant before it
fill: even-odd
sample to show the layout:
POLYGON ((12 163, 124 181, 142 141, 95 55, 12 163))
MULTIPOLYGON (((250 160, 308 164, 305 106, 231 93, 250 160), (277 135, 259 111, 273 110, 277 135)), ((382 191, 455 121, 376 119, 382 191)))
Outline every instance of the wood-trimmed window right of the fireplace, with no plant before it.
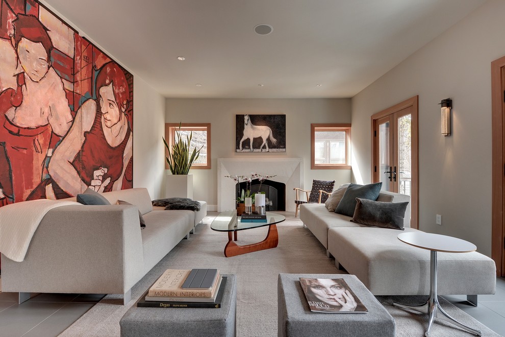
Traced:
POLYGON ((350 170, 350 124, 311 124, 312 170, 350 170))

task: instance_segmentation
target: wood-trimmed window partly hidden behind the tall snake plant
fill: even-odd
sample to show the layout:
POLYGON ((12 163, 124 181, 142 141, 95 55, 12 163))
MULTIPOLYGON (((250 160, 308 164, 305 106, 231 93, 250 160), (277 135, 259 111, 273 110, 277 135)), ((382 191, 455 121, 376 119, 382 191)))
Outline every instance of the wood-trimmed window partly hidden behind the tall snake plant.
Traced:
MULTIPOLYGON (((203 170, 209 169, 211 161, 211 133, 210 133, 210 123, 182 123, 179 129, 178 123, 166 123, 165 124, 165 140, 168 146, 171 148, 172 144, 176 140, 177 134, 186 139, 186 135, 190 135, 193 132, 191 139, 190 151, 196 147, 200 150, 200 155, 198 159, 191 166, 191 170, 203 170)), ((165 163, 165 168, 168 169, 168 164, 165 163)))

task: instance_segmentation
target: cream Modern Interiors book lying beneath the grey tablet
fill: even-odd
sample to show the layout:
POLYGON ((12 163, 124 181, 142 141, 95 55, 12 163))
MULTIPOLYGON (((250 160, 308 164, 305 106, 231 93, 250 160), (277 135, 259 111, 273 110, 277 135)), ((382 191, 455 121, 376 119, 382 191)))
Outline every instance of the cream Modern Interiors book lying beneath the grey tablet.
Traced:
POLYGON ((218 277, 210 288, 191 289, 183 288, 184 281, 191 273, 191 269, 168 269, 149 288, 148 297, 192 297, 212 298, 215 295, 218 277))

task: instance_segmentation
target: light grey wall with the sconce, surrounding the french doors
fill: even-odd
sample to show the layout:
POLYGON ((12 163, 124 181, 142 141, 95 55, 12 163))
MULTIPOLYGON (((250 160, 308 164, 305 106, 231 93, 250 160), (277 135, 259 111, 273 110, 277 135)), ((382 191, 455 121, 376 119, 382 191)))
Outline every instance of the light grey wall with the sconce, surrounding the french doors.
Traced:
POLYGON ((419 95, 419 229, 469 240, 488 256, 490 64, 505 55, 503 13, 505 2, 487 2, 352 98, 353 174, 369 183, 370 116, 419 95), (445 98, 453 100, 450 137, 440 134, 445 98))

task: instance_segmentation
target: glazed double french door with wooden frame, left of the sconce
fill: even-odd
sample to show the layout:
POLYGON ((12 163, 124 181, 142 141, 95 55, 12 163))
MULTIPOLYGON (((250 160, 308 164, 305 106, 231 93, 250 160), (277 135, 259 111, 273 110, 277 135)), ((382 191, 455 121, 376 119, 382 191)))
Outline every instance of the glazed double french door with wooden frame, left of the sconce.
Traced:
POLYGON ((372 116, 372 181, 411 197, 418 227, 417 96, 372 116))

